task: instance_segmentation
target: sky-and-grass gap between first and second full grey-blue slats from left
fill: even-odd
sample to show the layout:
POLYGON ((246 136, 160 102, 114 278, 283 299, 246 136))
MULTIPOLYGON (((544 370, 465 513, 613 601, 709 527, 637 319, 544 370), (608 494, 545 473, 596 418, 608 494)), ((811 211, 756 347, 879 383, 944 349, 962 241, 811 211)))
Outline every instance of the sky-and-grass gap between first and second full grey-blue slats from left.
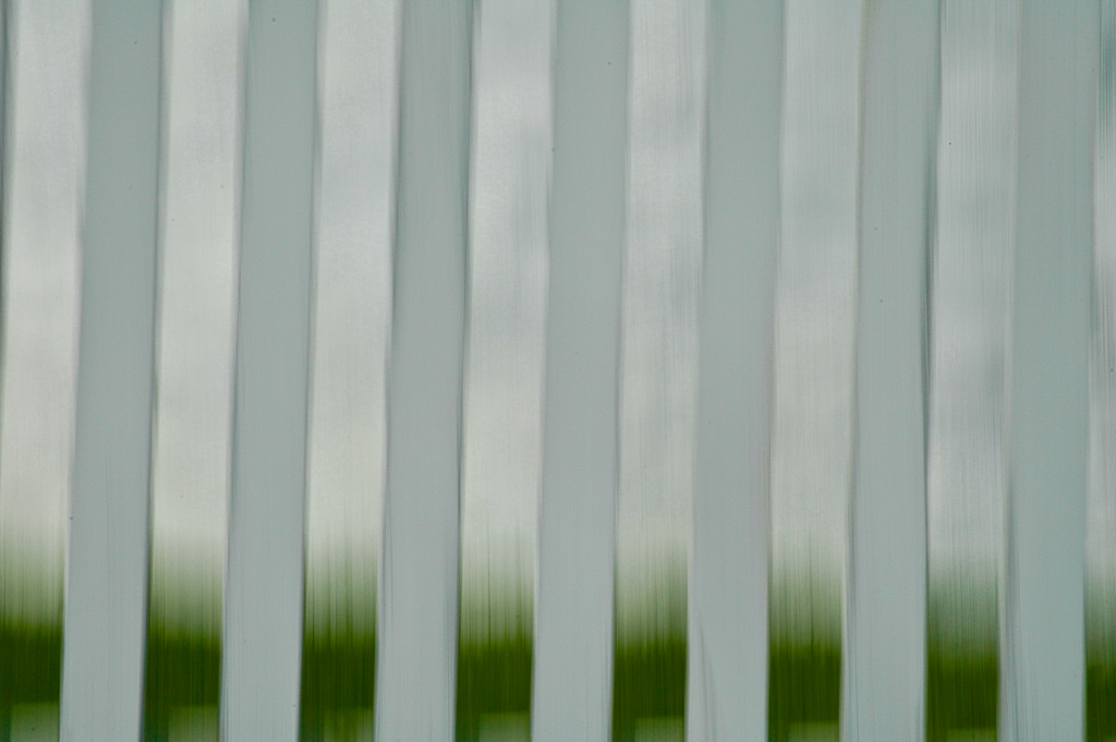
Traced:
POLYGON ((143 739, 217 741, 247 2, 164 17, 163 193, 143 739))

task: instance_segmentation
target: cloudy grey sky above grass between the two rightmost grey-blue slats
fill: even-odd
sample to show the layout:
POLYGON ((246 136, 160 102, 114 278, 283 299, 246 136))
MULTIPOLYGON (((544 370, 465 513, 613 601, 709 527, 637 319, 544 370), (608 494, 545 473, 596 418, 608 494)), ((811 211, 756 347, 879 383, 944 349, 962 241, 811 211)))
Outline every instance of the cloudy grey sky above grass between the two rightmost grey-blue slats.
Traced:
POLYGON ((931 581, 994 579, 1004 549, 1014 249, 1016 0, 946 0, 931 338, 931 581))

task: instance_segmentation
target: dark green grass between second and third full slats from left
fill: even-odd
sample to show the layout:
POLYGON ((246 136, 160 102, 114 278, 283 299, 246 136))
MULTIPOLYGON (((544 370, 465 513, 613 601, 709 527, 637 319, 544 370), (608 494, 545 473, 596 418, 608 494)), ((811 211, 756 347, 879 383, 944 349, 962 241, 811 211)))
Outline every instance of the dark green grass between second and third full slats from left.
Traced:
MULTIPOLYGON (((376 700, 376 632, 308 630, 302 637, 299 739, 357 742, 376 700)), ((371 738, 369 738, 371 739, 371 738)))

